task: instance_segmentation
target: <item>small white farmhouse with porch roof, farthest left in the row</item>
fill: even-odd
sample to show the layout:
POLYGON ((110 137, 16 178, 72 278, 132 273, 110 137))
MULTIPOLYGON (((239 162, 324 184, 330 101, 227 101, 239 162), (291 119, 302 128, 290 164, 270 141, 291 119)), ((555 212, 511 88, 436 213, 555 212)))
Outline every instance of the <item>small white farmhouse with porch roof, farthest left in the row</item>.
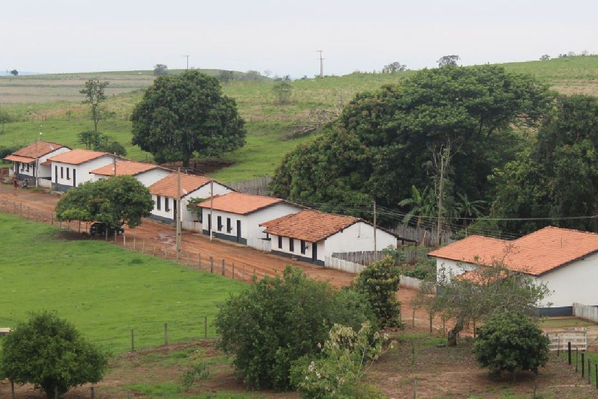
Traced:
POLYGON ((4 159, 13 162, 10 176, 17 175, 19 180, 29 179, 32 185, 35 185, 35 179, 39 178, 37 182, 39 186, 50 187, 52 171, 48 158, 68 151, 71 149, 62 144, 36 142, 13 152, 4 159))

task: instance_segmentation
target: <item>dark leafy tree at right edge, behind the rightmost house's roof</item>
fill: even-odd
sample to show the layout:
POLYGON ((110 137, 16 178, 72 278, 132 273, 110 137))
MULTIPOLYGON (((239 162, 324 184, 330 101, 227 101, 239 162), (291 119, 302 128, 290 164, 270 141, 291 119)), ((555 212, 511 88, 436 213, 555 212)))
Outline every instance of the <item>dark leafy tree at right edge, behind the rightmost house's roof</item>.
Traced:
POLYGON ((503 231, 525 234, 559 225, 596 231, 598 213, 598 99, 560 96, 538 130, 535 145, 496 173, 492 216, 503 231), (584 216, 586 217, 584 219, 584 216), (560 220, 558 218, 579 217, 560 220))

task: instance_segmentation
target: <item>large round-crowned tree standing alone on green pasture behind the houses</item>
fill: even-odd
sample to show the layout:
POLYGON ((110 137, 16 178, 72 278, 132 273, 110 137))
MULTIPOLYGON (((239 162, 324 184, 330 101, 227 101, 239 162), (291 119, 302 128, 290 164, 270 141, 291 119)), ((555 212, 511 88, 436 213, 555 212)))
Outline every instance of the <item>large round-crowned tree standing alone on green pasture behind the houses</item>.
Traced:
POLYGON ((158 162, 183 161, 197 152, 221 156, 245 145, 245 121, 234 99, 224 96, 218 79, 187 70, 160 76, 131 115, 133 144, 158 162))

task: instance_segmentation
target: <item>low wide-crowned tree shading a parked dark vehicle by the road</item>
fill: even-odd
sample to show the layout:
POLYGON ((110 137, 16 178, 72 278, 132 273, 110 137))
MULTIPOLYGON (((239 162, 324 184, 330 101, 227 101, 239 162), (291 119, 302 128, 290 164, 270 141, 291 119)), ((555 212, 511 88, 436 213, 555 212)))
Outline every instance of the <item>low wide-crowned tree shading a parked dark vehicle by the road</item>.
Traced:
POLYGON ((69 190, 56 204, 59 220, 105 222, 111 226, 126 223, 133 228, 154 208, 148 189, 132 176, 115 176, 86 182, 69 190))

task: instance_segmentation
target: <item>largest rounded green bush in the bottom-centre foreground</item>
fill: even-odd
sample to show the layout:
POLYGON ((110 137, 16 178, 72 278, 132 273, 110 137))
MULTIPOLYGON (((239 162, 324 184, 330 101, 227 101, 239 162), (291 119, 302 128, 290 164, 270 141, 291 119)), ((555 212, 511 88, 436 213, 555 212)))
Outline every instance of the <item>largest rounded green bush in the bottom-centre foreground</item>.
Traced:
POLYGON ((220 305, 218 347, 234 355, 237 376, 253 388, 289 389, 291 363, 319 352, 335 323, 376 326, 368 301, 336 290, 287 266, 281 277, 264 277, 220 305))

